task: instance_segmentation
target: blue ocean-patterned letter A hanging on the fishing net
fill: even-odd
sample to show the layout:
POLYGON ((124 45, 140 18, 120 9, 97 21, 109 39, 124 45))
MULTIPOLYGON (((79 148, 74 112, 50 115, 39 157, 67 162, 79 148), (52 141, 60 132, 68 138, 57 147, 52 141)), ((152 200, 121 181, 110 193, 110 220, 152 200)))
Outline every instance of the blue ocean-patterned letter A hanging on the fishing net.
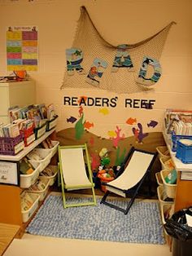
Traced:
POLYGON ((119 68, 127 68, 128 71, 133 71, 133 62, 128 52, 128 45, 120 45, 117 48, 111 72, 117 72, 119 68))

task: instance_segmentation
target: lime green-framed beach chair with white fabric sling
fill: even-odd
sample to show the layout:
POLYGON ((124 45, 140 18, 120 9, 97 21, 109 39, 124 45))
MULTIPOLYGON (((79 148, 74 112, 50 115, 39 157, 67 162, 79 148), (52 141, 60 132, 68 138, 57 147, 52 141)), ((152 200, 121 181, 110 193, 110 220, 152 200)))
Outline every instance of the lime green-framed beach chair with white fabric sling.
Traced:
POLYGON ((59 146, 59 169, 63 196, 63 207, 96 205, 92 171, 89 164, 87 145, 59 146), (87 169, 85 168, 85 162, 87 169), (91 189, 93 201, 68 203, 65 191, 91 189))

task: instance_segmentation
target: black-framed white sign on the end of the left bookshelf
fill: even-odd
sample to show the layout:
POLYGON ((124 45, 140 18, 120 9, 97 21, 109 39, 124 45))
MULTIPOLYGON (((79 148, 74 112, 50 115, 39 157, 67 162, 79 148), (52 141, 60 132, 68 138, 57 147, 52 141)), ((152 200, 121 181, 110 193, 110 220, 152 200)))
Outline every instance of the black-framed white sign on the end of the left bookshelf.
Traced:
POLYGON ((0 183, 20 186, 19 162, 0 161, 0 183))

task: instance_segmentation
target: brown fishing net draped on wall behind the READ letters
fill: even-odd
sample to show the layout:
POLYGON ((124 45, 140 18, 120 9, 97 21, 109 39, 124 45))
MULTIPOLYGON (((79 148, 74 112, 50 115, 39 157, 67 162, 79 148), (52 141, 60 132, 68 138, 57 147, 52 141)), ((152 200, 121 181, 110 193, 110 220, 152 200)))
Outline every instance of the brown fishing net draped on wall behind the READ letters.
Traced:
MULTIPOLYGON (((80 19, 77 23, 76 34, 72 43, 72 48, 81 49, 83 52, 83 61, 81 66, 84 68, 85 73, 73 73, 72 76, 68 75, 68 71, 64 73, 63 88, 87 88, 87 89, 102 89, 109 90, 116 93, 134 93, 143 90, 148 90, 147 87, 137 83, 137 76, 141 68, 143 56, 151 56, 159 60, 168 31, 174 22, 168 24, 164 29, 147 38, 142 42, 137 42, 128 47, 129 55, 133 62, 133 71, 128 68, 120 68, 117 72, 111 72, 111 67, 114 64, 114 58, 117 52, 117 46, 111 45, 103 39, 94 26, 94 23, 89 17, 85 7, 81 7, 80 19), (95 57, 107 61, 107 68, 103 71, 103 76, 100 79, 99 86, 93 86, 86 82, 86 76, 89 73, 91 64, 95 57), (146 89, 147 88, 147 89, 146 89)), ((149 68, 148 76, 150 77, 153 70, 149 68)))

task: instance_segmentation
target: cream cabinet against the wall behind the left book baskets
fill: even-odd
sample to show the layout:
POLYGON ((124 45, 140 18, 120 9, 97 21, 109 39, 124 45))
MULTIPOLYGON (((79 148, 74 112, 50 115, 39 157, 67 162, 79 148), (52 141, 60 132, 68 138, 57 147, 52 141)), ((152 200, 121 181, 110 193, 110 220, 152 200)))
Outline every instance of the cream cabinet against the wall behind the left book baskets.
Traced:
POLYGON ((0 82, 0 102, 0 122, 9 123, 8 108, 36 104, 35 82, 0 82))

